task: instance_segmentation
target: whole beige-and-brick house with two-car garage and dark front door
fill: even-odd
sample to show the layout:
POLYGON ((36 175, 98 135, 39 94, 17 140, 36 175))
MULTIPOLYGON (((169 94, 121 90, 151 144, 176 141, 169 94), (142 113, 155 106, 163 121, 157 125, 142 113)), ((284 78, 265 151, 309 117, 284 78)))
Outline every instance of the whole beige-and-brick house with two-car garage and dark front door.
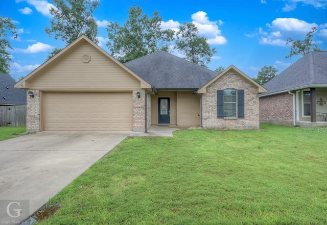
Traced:
POLYGON ((34 94, 28 131, 259 129, 266 92, 235 66, 218 75, 161 51, 122 64, 84 35, 15 87, 34 94))

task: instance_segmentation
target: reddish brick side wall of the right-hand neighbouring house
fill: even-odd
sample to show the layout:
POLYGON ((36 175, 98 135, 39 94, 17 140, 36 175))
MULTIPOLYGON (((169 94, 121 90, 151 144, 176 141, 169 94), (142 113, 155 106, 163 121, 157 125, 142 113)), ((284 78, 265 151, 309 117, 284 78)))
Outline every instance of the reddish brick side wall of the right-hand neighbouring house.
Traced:
POLYGON ((293 95, 282 93, 264 96, 260 97, 259 102, 261 122, 293 126, 293 95))

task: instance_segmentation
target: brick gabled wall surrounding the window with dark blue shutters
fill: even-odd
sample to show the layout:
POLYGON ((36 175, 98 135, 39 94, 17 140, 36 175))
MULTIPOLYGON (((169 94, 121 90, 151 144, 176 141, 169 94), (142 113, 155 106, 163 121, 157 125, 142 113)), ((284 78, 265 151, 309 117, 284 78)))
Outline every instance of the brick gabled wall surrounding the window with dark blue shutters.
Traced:
POLYGON ((259 94, 256 88, 229 71, 206 88, 202 95, 202 126, 207 129, 259 129, 259 94), (244 119, 217 118, 217 90, 244 90, 244 119))

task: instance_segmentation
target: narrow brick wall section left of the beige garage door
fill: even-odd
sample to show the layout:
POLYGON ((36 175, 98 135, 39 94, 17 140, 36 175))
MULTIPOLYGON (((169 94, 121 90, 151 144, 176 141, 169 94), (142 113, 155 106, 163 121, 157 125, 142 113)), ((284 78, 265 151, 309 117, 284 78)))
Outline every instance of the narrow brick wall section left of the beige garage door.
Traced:
POLYGON ((39 132, 40 131, 40 91, 39 90, 27 90, 32 91, 34 97, 31 98, 27 94, 26 102, 26 131, 27 132, 39 132))

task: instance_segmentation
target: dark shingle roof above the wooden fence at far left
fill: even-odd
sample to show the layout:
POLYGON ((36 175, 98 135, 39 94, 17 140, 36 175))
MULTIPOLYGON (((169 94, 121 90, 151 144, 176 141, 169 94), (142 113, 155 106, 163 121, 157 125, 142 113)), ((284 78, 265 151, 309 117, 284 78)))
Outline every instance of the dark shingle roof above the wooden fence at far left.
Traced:
POLYGON ((14 88, 15 80, 0 73, 0 105, 26 105, 26 91, 14 88))

